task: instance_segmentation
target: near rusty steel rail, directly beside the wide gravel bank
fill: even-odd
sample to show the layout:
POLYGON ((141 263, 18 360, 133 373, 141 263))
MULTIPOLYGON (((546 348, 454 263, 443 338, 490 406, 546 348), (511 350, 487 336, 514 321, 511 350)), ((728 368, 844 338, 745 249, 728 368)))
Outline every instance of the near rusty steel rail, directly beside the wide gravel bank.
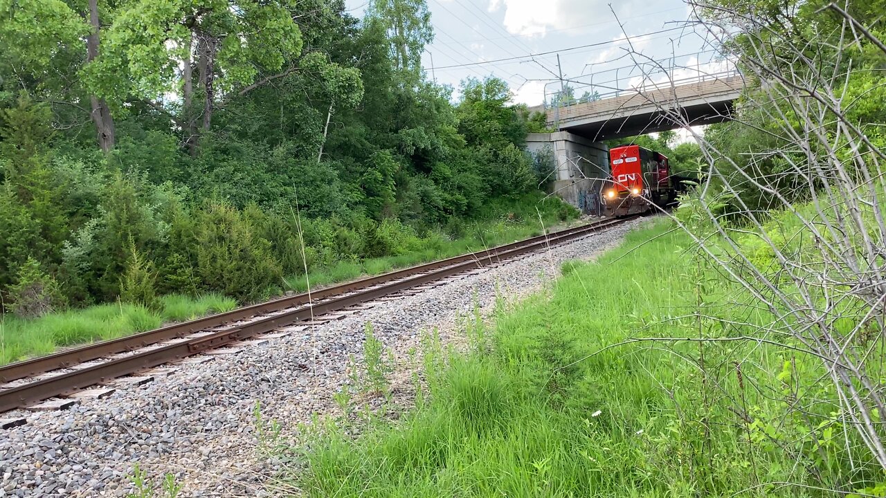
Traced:
MULTIPOLYGON (((345 293, 335 299, 321 301, 312 300, 310 303, 303 303, 306 306, 295 307, 291 311, 287 311, 283 314, 271 315, 267 318, 230 327, 223 331, 216 331, 208 335, 178 341, 174 344, 145 349, 144 351, 136 351, 133 354, 111 359, 89 367, 79 368, 69 372, 59 373, 55 376, 37 379, 33 382, 22 383, 21 385, 5 388, 0 390, 0 412, 23 408, 35 402, 43 401, 58 395, 64 395, 66 393, 72 393, 79 389, 89 387, 90 385, 107 383, 116 377, 138 373, 163 363, 175 362, 187 356, 199 354, 207 349, 224 346, 231 342, 252 337, 256 334, 274 331, 280 327, 292 323, 298 323, 316 315, 328 314, 368 300, 375 300, 396 292, 404 291, 410 287, 428 284, 447 276, 454 276, 470 269, 483 268, 488 264, 507 260, 523 253, 529 253, 547 245, 555 245, 573 238, 584 237, 595 231, 626 222, 633 218, 636 218, 636 216, 619 220, 591 223, 574 229, 562 230, 540 237, 532 237, 513 244, 502 245, 483 253, 472 253, 456 258, 450 258, 449 260, 443 261, 458 261, 452 264, 438 264, 436 265, 437 268, 431 268, 431 271, 406 276, 399 280, 388 279, 389 282, 387 284, 364 286, 361 292, 345 293), (393 281, 391 282, 390 280, 393 281)), ((437 261, 437 263, 443 261, 437 261)), ((434 263, 408 269, 428 266, 434 266, 434 263)), ((400 272, 393 272, 392 274, 386 275, 394 275, 398 273, 400 272)), ((361 282, 369 280, 373 279, 364 279, 361 282)), ((355 282, 352 284, 357 283, 355 282)), ((337 286, 335 288, 346 287, 346 285, 348 284, 337 286)), ((331 289, 334 288, 330 288, 329 290, 331 289)), ((317 292, 312 292, 312 299, 316 295, 317 292)), ((261 305, 257 305, 257 307, 260 306, 261 305)), ((206 330, 206 328, 201 330, 206 330)))

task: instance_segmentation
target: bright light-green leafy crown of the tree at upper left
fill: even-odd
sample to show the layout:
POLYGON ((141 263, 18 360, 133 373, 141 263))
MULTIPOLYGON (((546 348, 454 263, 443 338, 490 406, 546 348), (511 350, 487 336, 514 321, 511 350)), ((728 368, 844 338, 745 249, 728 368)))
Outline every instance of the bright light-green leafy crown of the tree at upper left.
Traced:
POLYGON ((113 102, 129 94, 154 98, 170 89, 177 61, 191 47, 191 37, 201 34, 213 43, 218 87, 250 84, 260 70, 277 71, 299 55, 301 33, 290 6, 286 0, 124 2, 105 30, 101 56, 84 67, 84 78, 98 96, 113 102))

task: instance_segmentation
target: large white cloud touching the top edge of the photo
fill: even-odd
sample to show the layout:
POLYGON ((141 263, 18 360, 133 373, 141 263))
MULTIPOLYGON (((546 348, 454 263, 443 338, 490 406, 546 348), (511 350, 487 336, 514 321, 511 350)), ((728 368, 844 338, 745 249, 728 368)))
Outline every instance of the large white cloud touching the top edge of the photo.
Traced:
MULTIPOLYGON (((618 4, 621 12, 633 0, 618 4)), ((563 29, 614 21, 608 0, 489 0, 489 12, 504 9, 504 27, 511 35, 544 36, 548 28, 563 29)))

